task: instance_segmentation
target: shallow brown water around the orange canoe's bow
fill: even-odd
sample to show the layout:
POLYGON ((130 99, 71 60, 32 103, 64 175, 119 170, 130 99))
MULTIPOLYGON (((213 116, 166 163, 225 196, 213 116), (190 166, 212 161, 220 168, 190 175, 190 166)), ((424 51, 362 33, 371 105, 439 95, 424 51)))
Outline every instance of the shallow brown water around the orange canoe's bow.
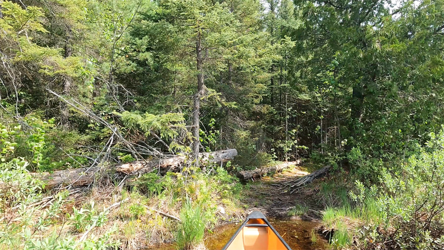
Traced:
MULTIPOLYGON (((317 222, 300 219, 282 220, 269 218, 268 220, 292 250, 329 249, 327 241, 322 239, 317 233, 317 241, 315 244, 312 243, 311 231, 319 225, 317 222)), ((205 236, 205 246, 208 250, 222 250, 240 224, 226 224, 216 228, 212 233, 207 233, 205 236)), ((176 246, 174 244, 163 244, 150 248, 150 250, 176 250, 176 246)))

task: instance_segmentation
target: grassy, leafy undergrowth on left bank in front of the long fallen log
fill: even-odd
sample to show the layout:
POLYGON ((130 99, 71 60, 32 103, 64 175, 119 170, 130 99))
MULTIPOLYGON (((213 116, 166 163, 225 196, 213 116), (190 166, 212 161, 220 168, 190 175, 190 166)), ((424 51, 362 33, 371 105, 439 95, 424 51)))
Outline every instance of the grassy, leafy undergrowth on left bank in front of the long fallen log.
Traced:
MULTIPOLYGON (((203 232, 243 211, 243 186, 225 170, 229 162, 225 168, 207 165, 206 172, 185 168, 165 176, 148 173, 129 180, 123 190, 119 181, 114 187, 97 182, 74 200, 66 191, 47 192, 31 171, 65 168, 69 162, 51 163, 57 157, 46 141, 56 132, 52 121, 25 119, 30 125, 26 129, 0 124, 0 250, 135 250, 174 240, 188 249, 202 241, 203 232), (47 196, 54 200, 41 202, 47 196)), ((120 159, 133 158, 122 154, 120 159)))

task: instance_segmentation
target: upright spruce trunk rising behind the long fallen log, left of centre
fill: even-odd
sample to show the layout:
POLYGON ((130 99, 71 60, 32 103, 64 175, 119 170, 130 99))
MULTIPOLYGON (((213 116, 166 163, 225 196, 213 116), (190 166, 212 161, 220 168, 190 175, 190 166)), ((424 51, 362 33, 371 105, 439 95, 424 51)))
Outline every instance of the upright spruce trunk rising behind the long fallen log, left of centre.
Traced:
MULTIPOLYGON (((197 35, 197 41, 196 41, 196 64, 197 64, 197 92, 194 94, 194 103, 193 103, 193 115, 192 115, 192 135, 193 135, 193 142, 191 145, 192 153, 194 156, 194 159, 197 159, 199 156, 199 148, 200 148, 200 141, 199 141, 199 115, 200 115, 200 99, 203 96, 204 92, 204 83, 203 83, 203 76, 202 76, 202 46, 201 46, 201 34, 200 32, 197 35)), ((198 164, 198 161, 196 160, 196 164, 198 164)))

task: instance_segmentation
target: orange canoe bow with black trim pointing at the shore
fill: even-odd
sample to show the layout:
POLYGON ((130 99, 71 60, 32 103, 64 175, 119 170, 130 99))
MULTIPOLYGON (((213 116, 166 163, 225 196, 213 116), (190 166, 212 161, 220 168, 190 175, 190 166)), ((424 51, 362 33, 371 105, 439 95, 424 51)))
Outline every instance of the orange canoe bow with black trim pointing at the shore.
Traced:
POLYGON ((259 211, 251 213, 222 250, 292 250, 259 211))

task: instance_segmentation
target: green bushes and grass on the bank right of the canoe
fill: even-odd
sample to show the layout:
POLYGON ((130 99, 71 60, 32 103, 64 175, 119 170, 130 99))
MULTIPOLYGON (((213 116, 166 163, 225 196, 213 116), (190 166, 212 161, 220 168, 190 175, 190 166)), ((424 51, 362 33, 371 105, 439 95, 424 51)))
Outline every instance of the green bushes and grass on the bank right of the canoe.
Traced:
POLYGON ((444 131, 429 134, 425 145, 410 145, 406 158, 369 159, 352 149, 350 163, 377 169, 336 172, 336 182, 319 186, 326 207, 322 222, 333 249, 441 250, 444 248, 444 131), (346 175, 349 176, 346 176, 346 175), (351 177, 351 178, 350 178, 351 177), (354 179, 344 185, 339 180, 354 179))

